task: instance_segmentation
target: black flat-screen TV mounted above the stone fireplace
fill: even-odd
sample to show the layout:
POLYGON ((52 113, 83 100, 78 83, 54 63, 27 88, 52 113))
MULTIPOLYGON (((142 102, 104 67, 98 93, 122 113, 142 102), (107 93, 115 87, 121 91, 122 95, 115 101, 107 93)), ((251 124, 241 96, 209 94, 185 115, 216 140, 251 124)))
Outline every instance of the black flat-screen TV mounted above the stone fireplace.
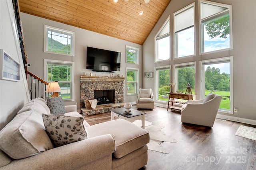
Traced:
POLYGON ((120 52, 87 47, 86 57, 86 69, 100 72, 120 71, 120 52))

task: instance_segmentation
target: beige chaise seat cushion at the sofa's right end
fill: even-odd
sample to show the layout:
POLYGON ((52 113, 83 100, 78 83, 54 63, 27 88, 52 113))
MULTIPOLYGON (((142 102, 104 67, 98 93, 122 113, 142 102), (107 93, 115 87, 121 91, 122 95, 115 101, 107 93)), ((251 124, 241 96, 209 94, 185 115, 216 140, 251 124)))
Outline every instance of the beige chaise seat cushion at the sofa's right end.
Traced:
POLYGON ((111 134, 116 141, 116 151, 114 152, 116 158, 122 158, 149 143, 148 131, 123 119, 92 125, 87 127, 87 130, 90 138, 111 134))

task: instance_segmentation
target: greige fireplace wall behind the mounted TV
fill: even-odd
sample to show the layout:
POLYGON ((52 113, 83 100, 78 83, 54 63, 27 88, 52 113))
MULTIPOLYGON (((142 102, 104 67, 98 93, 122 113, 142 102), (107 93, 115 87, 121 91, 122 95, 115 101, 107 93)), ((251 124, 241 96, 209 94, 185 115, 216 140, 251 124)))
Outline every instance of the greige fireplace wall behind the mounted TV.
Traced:
MULTIPOLYGON (((80 109, 80 75, 82 72, 86 72, 89 75, 92 70, 86 70, 86 47, 95 47, 99 49, 107 49, 111 51, 121 52, 121 71, 116 71, 117 74, 126 75, 126 67, 136 67, 142 70, 142 66, 134 64, 126 64, 126 49, 125 46, 129 45, 140 49, 140 56, 142 56, 142 45, 130 43, 121 39, 116 39, 78 27, 73 27, 63 23, 59 23, 52 20, 32 16, 29 14, 21 13, 22 25, 24 30, 26 52, 28 53, 28 63, 30 67, 28 70, 33 74, 36 74, 40 78, 44 78, 44 59, 73 61, 75 63, 75 101, 65 102, 65 105, 72 105, 75 102, 78 103, 78 109, 80 109), (44 53, 44 25, 50 25, 52 27, 58 27, 75 32, 75 56, 70 57, 66 55, 58 55, 51 53, 44 53)), ((142 63, 142 57, 140 59, 142 63)), ((111 74, 105 72, 92 72, 93 75, 98 76, 102 74, 111 74)), ((142 81, 142 78, 140 78, 142 81)), ((142 86, 142 83, 140 83, 142 86)), ((125 92, 126 87, 124 87, 125 92)), ((137 96, 125 96, 125 102, 134 102, 137 96)))

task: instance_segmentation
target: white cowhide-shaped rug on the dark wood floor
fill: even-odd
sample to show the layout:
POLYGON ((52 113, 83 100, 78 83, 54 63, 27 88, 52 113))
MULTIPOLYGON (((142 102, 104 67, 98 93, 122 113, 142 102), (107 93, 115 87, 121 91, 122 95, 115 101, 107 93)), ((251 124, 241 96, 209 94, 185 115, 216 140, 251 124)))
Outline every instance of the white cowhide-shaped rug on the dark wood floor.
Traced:
MULTIPOLYGON (((133 123, 138 125, 139 127, 142 126, 141 120, 136 120, 133 123)), ((150 136, 150 141, 147 144, 148 149, 168 154, 170 153, 170 151, 161 147, 161 143, 177 142, 177 141, 172 137, 165 135, 165 133, 161 131, 163 128, 164 126, 152 125, 151 122, 145 121, 145 129, 149 132, 149 136, 150 136)))

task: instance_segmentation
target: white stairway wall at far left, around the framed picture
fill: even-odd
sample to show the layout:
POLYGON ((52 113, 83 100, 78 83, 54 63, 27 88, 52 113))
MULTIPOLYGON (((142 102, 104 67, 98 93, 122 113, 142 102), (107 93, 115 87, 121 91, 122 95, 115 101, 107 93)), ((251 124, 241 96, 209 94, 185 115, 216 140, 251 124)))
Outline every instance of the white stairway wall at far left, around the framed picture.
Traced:
POLYGON ((15 23, 12 22, 11 18, 14 18, 12 0, 0 0, 0 49, 6 51, 8 55, 20 63, 21 71, 18 82, 0 80, 0 130, 15 117, 21 107, 29 100, 19 41, 13 29, 15 23))

